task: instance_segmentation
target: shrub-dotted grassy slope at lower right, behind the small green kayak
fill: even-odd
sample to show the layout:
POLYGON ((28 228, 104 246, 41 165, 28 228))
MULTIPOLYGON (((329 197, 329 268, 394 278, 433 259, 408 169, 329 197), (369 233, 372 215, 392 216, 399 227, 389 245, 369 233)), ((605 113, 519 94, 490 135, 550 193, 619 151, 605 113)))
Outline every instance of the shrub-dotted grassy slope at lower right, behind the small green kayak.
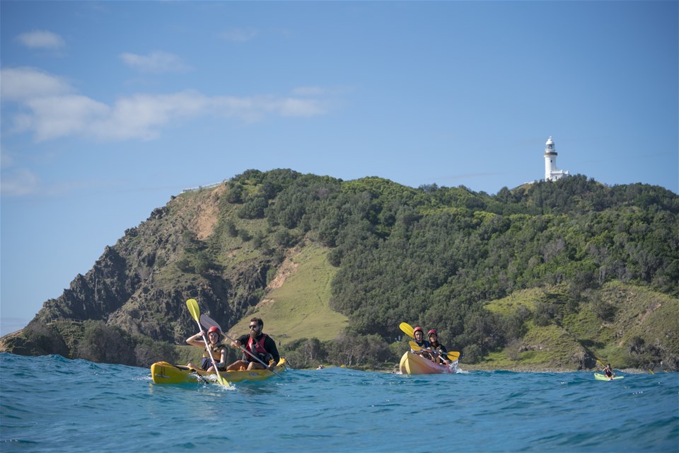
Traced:
MULTIPOLYGON (((555 288, 555 293, 559 289, 555 288)), ((550 298, 540 289, 526 289, 509 297, 489 302, 486 309, 504 316, 520 306, 529 311, 535 304, 550 298)), ((616 308, 610 321, 600 321, 588 304, 576 314, 564 316, 562 326, 535 326, 527 321, 521 338, 521 352, 507 347, 493 352, 483 365, 494 368, 572 368, 589 350, 601 360, 626 366, 629 341, 639 337, 647 345, 679 345, 679 300, 644 287, 610 282, 598 290, 598 296, 616 308)))

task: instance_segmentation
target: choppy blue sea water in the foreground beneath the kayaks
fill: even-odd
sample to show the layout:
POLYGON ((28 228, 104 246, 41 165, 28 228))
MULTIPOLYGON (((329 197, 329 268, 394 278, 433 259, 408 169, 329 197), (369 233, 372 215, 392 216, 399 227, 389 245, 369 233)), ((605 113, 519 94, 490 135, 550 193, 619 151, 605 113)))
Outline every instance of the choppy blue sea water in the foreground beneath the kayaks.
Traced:
POLYGON ((289 370, 153 384, 148 368, 0 354, 0 451, 678 452, 679 374, 289 370))

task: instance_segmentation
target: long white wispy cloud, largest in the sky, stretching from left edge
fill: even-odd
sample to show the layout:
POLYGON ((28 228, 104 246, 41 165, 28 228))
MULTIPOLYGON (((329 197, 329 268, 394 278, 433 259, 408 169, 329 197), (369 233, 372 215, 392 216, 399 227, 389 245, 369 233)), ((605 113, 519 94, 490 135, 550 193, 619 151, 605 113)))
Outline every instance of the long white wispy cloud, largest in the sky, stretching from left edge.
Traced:
POLYGON ((3 103, 18 104, 13 132, 30 132, 37 142, 59 137, 103 141, 155 139, 178 120, 207 115, 255 122, 267 116, 311 117, 327 112, 311 96, 207 96, 186 90, 136 94, 112 105, 76 93, 64 79, 33 68, 1 69, 3 103))

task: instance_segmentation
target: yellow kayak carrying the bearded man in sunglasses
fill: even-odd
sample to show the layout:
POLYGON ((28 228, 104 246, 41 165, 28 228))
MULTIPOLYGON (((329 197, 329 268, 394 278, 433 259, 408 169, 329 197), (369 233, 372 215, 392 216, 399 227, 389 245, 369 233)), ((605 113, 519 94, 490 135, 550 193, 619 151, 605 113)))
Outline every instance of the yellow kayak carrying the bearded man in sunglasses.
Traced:
MULTIPOLYGON (((274 368, 278 374, 287 369, 285 358, 281 357, 278 365, 274 368)), ((263 381, 275 374, 268 369, 252 369, 250 371, 225 371, 221 372, 227 382, 263 381)), ((151 378, 156 384, 182 384, 185 382, 200 382, 214 380, 214 372, 207 372, 199 368, 187 367, 186 365, 172 365, 168 362, 156 362, 151 365, 151 378)))

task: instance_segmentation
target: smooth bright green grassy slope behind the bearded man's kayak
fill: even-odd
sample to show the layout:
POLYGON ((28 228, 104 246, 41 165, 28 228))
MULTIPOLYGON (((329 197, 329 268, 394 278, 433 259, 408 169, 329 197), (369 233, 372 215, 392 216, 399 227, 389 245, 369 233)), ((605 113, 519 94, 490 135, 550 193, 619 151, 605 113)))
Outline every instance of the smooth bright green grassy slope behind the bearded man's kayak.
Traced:
POLYGON ((299 338, 332 340, 347 326, 347 318, 332 311, 330 281, 336 269, 327 262, 327 248, 311 244, 291 258, 296 270, 281 287, 272 289, 254 311, 228 332, 235 338, 248 332, 253 316, 264 321, 264 331, 282 344, 299 338))

